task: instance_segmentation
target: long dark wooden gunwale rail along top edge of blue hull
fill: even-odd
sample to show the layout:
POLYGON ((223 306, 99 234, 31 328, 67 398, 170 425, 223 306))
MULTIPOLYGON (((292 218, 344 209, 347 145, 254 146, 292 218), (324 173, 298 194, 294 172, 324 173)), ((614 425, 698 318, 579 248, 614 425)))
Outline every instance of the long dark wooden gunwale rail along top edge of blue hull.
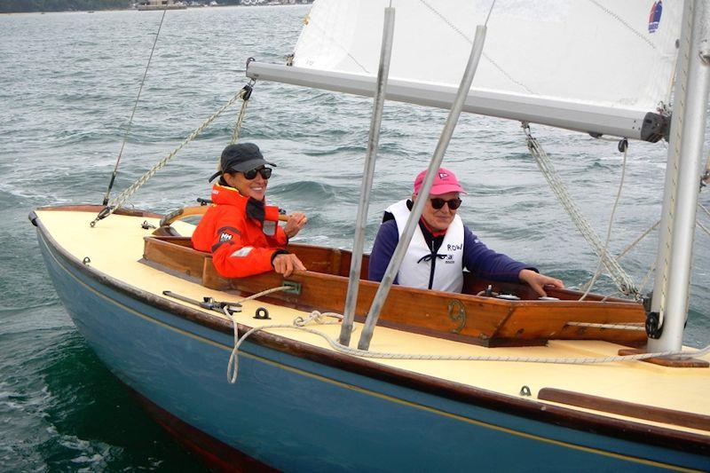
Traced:
MULTIPOLYGON (((59 206, 51 208, 51 210, 56 211, 86 212, 98 212, 100 209, 103 209, 103 207, 81 206, 77 209, 77 207, 74 206, 59 206)), ((38 210, 46 210, 46 208, 38 210)), ((96 280, 99 284, 123 296, 130 297, 138 303, 151 305, 159 310, 170 312, 170 314, 178 318, 192 321, 202 327, 207 327, 217 332, 225 334, 233 333, 233 327, 226 319, 211 315, 205 311, 174 303, 160 296, 155 296, 145 290, 130 286, 122 280, 116 280, 106 273, 99 272, 99 270, 92 268, 91 265, 82 264, 76 256, 68 253, 66 249, 59 246, 58 242, 54 240, 48 230, 43 226, 41 220, 33 214, 34 212, 30 214, 30 221, 33 225, 36 225, 40 236, 47 242, 48 246, 50 246, 66 264, 73 267, 75 271, 96 280)), ((244 335, 250 328, 251 327, 238 324, 240 335, 244 335)), ((378 381, 419 390, 436 397, 447 398, 472 406, 491 409, 503 414, 518 415, 526 419, 547 422, 594 435, 604 435, 640 444, 660 446, 680 452, 710 456, 710 437, 695 432, 674 430, 657 425, 607 417, 601 414, 582 412, 569 407, 549 405, 534 399, 513 398, 505 394, 464 385, 458 382, 450 382, 396 367, 383 366, 367 359, 354 358, 268 332, 257 332, 249 338, 249 342, 262 345, 273 351, 280 351, 298 358, 307 359, 327 367, 334 367, 352 374, 364 375, 378 381)))

